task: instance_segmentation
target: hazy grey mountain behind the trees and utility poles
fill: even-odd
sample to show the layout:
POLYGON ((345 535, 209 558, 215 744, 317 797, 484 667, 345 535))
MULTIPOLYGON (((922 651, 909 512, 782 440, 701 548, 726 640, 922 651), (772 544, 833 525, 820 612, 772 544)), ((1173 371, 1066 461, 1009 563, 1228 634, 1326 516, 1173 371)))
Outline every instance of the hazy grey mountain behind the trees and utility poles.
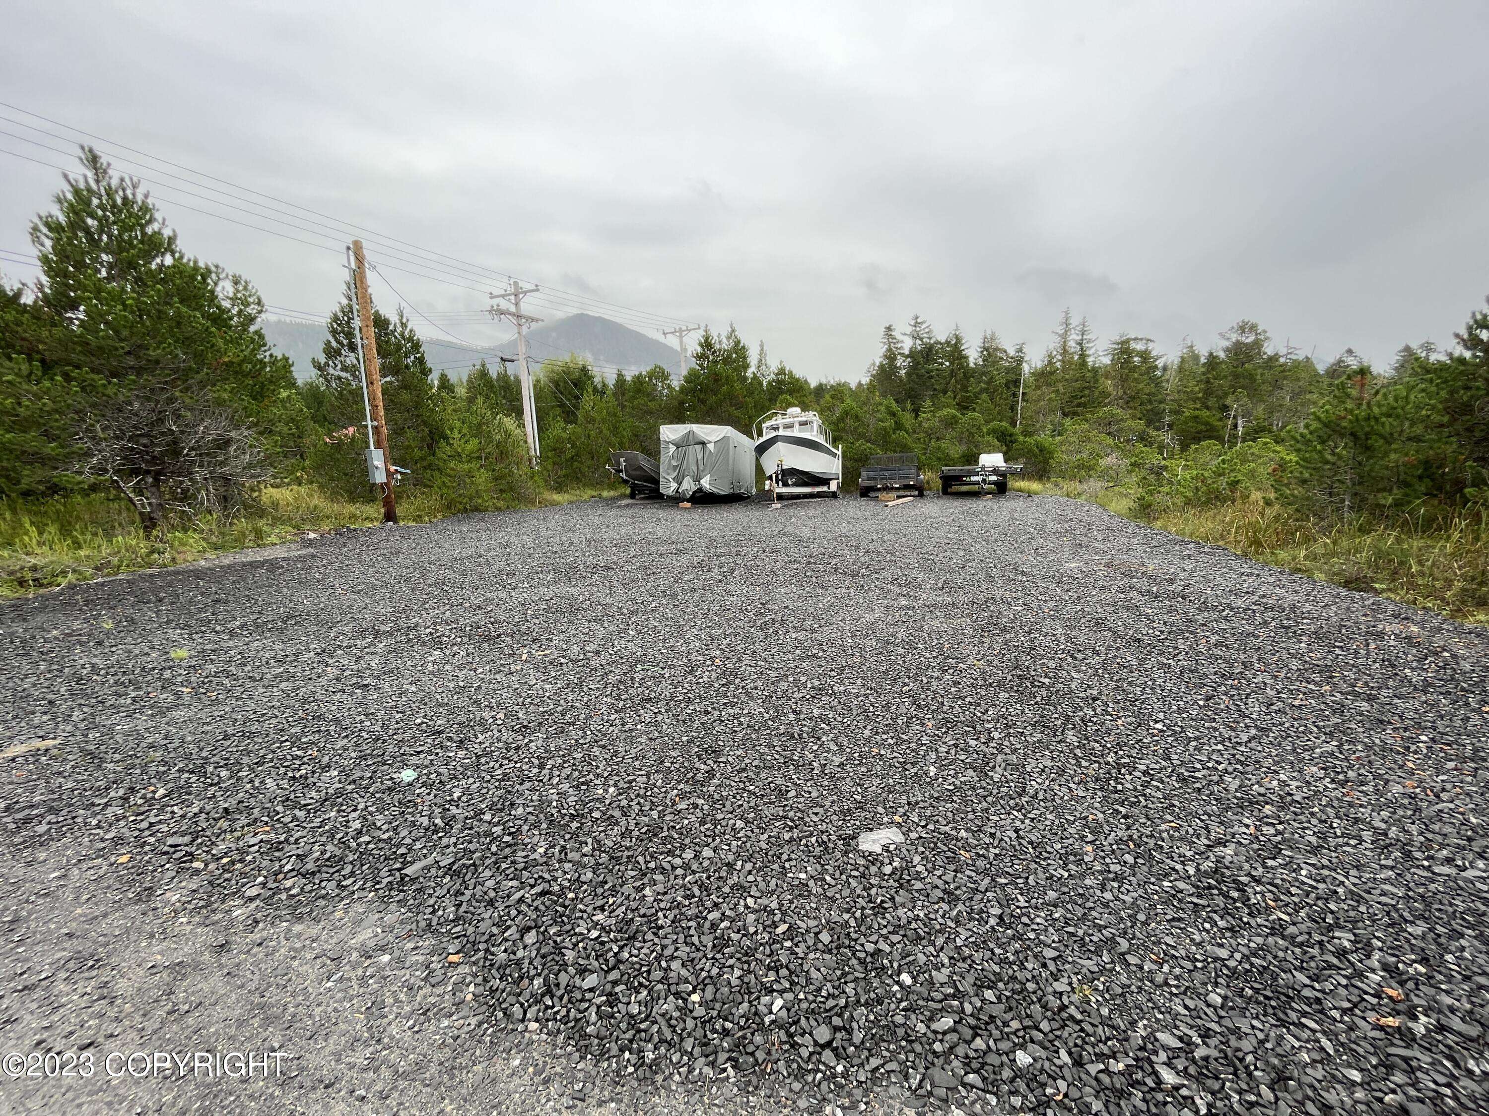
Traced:
MULTIPOLYGON (((310 379, 316 375, 310 362, 320 356, 322 345, 326 342, 325 326, 278 317, 265 317, 261 326, 270 344, 293 362, 296 376, 310 379)), ((482 359, 494 365, 499 356, 517 356, 515 335, 500 345, 488 348, 441 338, 421 336, 420 339, 424 342, 430 368, 436 373, 448 372, 454 379, 465 376, 471 366, 482 359)), ((585 357, 606 378, 613 376, 615 369, 640 372, 652 365, 661 365, 675 376, 677 375, 676 347, 594 314, 570 314, 527 330, 527 359, 533 368, 570 353, 585 357)))

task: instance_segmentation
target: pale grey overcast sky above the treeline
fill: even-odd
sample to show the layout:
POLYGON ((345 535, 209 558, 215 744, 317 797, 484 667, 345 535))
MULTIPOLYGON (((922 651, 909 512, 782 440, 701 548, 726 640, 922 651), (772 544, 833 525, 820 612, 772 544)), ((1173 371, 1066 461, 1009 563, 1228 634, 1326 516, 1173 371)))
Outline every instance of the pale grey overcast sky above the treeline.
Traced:
MULTIPOLYGON (((538 284, 733 320, 813 379, 859 376, 913 312, 1036 351, 1066 305, 1164 353, 1246 317, 1388 362, 1489 295, 1483 0, 48 0, 4 24, 0 100, 538 284)), ((0 155, 0 248, 30 251, 58 177, 0 155)), ((265 301, 335 304, 335 253, 162 208, 265 301)))

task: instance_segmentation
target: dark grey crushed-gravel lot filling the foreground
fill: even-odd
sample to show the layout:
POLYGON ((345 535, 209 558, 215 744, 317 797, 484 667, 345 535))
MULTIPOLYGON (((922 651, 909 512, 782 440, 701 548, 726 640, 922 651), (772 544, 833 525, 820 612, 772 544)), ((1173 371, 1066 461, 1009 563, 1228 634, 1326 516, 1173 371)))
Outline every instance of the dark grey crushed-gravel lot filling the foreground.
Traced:
POLYGON ((1489 634, 1088 504, 350 531, 0 680, 0 1052, 298 1059, 0 1107, 1489 1107, 1489 634))

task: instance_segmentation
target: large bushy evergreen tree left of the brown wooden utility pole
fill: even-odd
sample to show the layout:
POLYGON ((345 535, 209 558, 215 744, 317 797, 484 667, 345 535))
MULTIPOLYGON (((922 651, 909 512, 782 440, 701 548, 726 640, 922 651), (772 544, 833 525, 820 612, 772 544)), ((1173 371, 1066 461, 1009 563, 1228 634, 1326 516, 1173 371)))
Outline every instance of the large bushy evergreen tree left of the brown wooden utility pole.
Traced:
POLYGON ((22 353, 37 359, 9 363, 9 388, 48 412, 31 436, 51 442, 54 466, 77 446, 71 467, 113 485, 147 528, 170 509, 231 507, 299 452, 293 369, 258 329, 264 304, 246 280, 186 256, 140 183, 95 150, 80 162, 31 225, 42 274, 3 321, 24 324, 22 353))

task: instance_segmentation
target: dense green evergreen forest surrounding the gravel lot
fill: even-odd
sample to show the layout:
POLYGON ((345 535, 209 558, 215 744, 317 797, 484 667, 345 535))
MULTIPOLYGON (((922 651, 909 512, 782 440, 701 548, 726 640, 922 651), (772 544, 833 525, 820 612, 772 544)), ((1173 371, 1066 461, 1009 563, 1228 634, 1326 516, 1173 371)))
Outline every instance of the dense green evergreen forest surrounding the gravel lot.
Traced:
MULTIPOLYGON (((33 225, 39 278, 0 283, 0 498, 112 494, 144 533, 237 515, 272 485, 369 500, 350 292, 316 378, 296 384, 253 286, 186 254, 137 182, 91 150, 82 162, 33 225)), ((1455 347, 1404 345, 1379 369, 1348 350, 1318 368, 1245 320, 1163 354, 1141 336, 1102 341, 1069 311, 1039 353, 913 317, 884 326, 856 382, 809 379, 733 326, 706 329, 680 381, 543 363, 536 470, 512 373, 436 376, 402 311, 377 311, 375 333, 392 458, 441 512, 599 490, 608 452, 655 452, 663 423, 749 432, 791 405, 823 414, 849 491, 873 454, 913 451, 931 473, 999 449, 1035 481, 1121 490, 1148 519, 1249 500, 1319 531, 1401 516, 1449 530, 1489 497, 1483 310, 1455 347)))

